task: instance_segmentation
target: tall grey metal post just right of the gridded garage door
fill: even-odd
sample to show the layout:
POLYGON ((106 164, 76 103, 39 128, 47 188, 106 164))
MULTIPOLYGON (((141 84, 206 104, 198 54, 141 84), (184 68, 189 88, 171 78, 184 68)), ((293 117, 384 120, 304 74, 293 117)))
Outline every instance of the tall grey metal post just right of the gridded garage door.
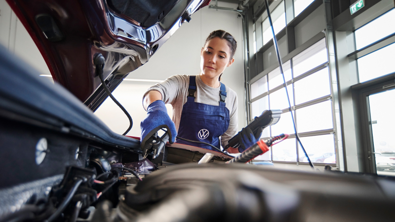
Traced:
POLYGON ((323 0, 326 20, 325 40, 328 53, 329 62, 329 77, 331 81, 331 94, 332 94, 332 113, 333 113, 333 129, 335 152, 336 152, 336 166, 341 171, 344 171, 344 155, 343 155, 343 141, 341 129, 341 110, 339 101, 339 85, 337 81, 336 72, 336 54, 335 54, 335 41, 332 26, 332 5, 330 0, 323 0))

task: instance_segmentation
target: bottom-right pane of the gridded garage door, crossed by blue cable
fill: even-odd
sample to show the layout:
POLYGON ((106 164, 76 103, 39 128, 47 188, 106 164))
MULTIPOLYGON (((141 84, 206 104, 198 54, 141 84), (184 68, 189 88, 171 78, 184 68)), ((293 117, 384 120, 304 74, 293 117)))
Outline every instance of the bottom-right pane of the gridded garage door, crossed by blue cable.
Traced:
MULTIPOLYGON (((335 158, 335 142, 332 134, 313 137, 301 137, 300 141, 306 149, 310 160, 315 163, 331 163, 335 158)), ((276 146, 276 145, 275 145, 276 146)), ((299 161, 307 162, 307 158, 299 146, 299 161)))

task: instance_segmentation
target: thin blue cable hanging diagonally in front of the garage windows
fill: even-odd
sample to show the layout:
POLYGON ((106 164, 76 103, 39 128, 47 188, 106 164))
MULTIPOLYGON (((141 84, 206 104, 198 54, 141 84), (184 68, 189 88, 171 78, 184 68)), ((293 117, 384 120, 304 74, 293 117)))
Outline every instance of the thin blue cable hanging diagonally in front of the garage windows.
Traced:
POLYGON ((287 89, 287 84, 285 81, 284 72, 282 71, 282 61, 281 61, 281 57, 280 57, 280 52, 278 51, 277 39, 276 39, 276 35, 275 35, 275 29, 273 27, 272 16, 270 15, 268 0, 265 0, 265 5, 266 5, 266 11, 268 13, 270 27, 272 28, 272 35, 273 35, 273 41, 274 41, 274 46, 275 46, 275 50, 276 50, 276 56, 277 56, 277 60, 278 60, 278 66, 280 68, 280 73, 282 75, 282 80, 284 82, 285 92, 287 93, 289 111, 291 112, 291 116, 292 116, 292 123, 293 123, 293 129, 295 130, 295 137, 296 137, 296 140, 299 142, 300 147, 303 149, 303 152, 305 153, 305 156, 307 157, 307 160, 309 161, 310 166, 314 169, 314 165, 313 165, 312 161, 310 160, 309 155, 307 155, 307 152, 306 152, 305 148, 303 147, 302 142, 300 142, 298 132, 296 131, 295 119, 294 119, 293 113, 292 113, 291 101, 289 100, 289 96, 288 96, 288 89, 287 89))

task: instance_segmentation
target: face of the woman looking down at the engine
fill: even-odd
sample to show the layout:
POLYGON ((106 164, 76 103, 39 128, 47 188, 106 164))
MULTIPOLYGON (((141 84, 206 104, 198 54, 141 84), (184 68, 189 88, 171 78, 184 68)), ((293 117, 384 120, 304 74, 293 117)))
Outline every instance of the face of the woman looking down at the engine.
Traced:
POLYGON ((231 58, 228 41, 219 37, 210 39, 200 52, 200 70, 207 78, 217 78, 235 59, 231 58))

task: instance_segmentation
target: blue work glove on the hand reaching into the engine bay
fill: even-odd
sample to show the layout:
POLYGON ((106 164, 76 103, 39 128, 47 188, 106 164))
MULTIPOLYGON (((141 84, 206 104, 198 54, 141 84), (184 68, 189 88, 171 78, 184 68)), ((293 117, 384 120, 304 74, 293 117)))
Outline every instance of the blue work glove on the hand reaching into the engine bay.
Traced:
POLYGON ((141 148, 144 148, 147 140, 162 128, 166 128, 169 133, 169 143, 174 143, 177 136, 176 126, 167 114, 164 102, 157 100, 151 103, 147 110, 147 117, 140 124, 141 148))

